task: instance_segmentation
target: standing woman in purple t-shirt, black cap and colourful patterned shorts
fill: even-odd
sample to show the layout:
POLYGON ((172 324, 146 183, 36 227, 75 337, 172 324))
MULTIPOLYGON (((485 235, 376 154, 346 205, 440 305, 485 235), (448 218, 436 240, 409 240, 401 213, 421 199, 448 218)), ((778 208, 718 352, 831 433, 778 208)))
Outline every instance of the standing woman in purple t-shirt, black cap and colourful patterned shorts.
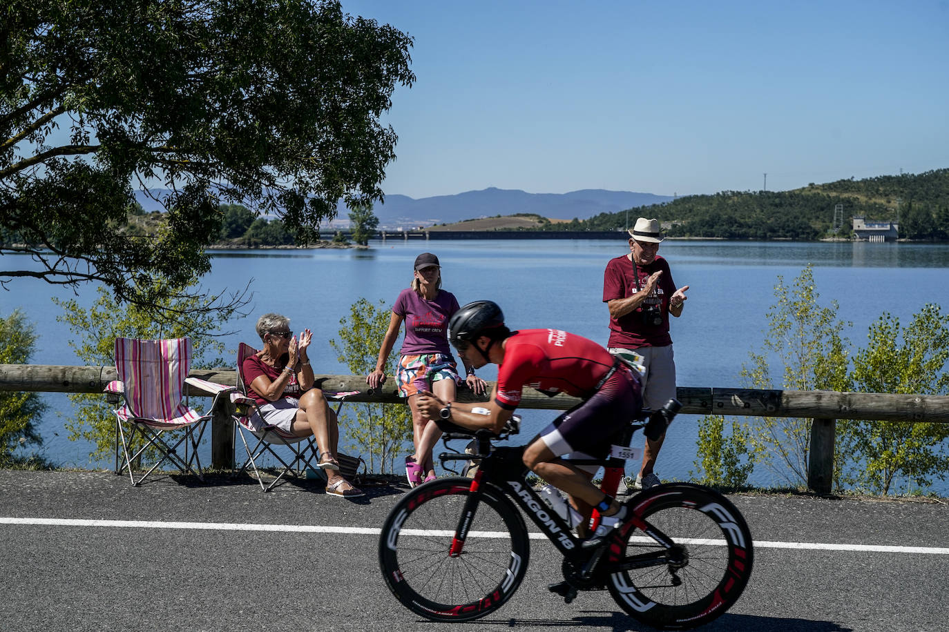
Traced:
MULTIPOLYGON (((379 388, 385 381, 385 361, 404 321, 405 339, 400 350, 397 384, 399 394, 408 398, 412 411, 415 453, 405 457, 405 476, 412 487, 435 479, 432 448, 441 437, 437 425, 422 417, 416 406, 419 388, 431 390, 446 402, 454 402, 456 385, 461 383, 447 334, 448 321, 457 311, 455 295, 441 289, 438 258, 430 252, 420 254, 416 257, 412 287, 402 290, 392 307, 392 319, 382 338, 376 370, 365 378, 371 388, 379 388)), ((474 375, 474 368, 466 366, 465 370, 468 388, 483 393, 484 380, 474 375)))

